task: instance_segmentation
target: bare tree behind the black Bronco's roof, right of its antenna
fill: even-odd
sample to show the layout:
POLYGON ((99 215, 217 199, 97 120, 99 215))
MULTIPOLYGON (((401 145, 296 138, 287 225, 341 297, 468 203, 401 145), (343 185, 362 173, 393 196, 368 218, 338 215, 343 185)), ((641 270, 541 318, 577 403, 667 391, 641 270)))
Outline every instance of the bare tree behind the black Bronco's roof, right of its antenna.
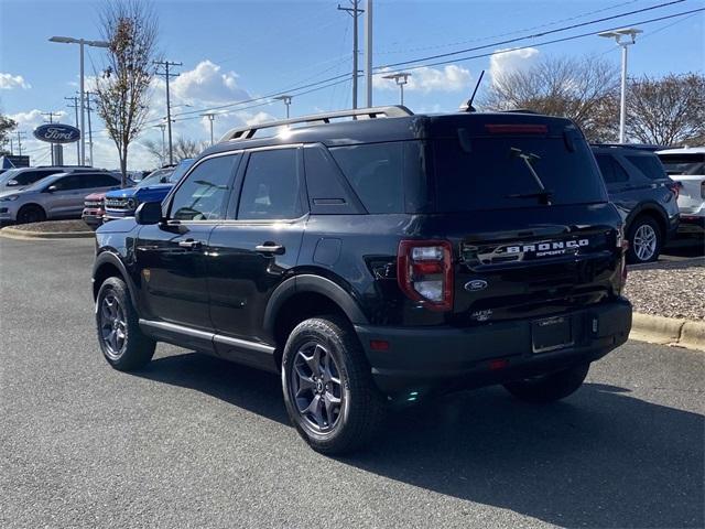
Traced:
POLYGON ((547 57, 495 77, 481 105, 571 118, 588 140, 610 141, 617 136, 619 75, 599 57, 547 57))

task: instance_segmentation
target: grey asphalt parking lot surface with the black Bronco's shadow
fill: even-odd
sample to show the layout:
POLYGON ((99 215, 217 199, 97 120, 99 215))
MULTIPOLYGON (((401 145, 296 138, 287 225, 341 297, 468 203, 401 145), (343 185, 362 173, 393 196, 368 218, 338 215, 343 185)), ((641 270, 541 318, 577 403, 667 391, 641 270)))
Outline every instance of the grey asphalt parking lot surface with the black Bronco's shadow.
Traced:
POLYGON ((279 379, 161 345, 115 371, 93 240, 0 239, 0 527, 703 527, 703 353, 629 342, 565 401, 498 388, 329 458, 279 379))

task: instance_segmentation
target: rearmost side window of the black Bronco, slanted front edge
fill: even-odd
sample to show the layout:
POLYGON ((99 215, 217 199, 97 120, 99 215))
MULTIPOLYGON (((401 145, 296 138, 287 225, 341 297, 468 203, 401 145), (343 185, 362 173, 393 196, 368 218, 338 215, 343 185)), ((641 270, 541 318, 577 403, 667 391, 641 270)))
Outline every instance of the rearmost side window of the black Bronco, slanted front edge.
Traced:
POLYGON ((389 142, 330 149, 369 213, 404 212, 403 148, 403 142, 389 142))

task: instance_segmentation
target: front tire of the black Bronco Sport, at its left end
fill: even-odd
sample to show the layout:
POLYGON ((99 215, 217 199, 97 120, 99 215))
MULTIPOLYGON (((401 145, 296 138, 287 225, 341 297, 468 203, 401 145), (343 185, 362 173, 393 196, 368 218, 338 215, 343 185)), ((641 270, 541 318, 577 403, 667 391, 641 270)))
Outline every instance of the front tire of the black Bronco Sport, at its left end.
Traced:
POLYGON ((130 293, 120 278, 108 278, 100 285, 96 300, 96 330, 102 356, 108 364, 120 371, 144 367, 154 355, 156 342, 145 336, 140 330, 130 293), (111 309, 108 305, 115 306, 121 323, 113 325, 109 314, 111 309), (115 333, 111 338, 108 337, 110 331, 115 333), (123 336, 122 339, 119 338, 120 334, 123 336))

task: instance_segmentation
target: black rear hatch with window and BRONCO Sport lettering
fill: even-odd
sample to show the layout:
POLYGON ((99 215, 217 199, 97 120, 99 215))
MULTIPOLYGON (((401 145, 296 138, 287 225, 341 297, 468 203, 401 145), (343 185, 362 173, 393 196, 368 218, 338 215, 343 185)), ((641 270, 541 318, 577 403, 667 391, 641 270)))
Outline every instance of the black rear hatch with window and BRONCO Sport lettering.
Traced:
POLYGON ((619 293, 619 215, 571 121, 468 116, 445 132, 431 140, 436 213, 420 230, 453 248, 447 323, 556 314, 619 293))

